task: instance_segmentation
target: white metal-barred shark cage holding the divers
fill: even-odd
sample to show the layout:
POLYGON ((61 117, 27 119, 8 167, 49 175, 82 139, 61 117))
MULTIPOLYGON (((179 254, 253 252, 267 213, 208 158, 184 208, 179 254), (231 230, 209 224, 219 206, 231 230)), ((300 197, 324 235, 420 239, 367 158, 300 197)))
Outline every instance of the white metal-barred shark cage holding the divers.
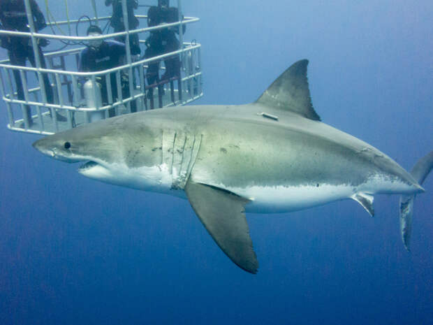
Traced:
MULTIPOLYGON (((0 30, 0 34, 8 36, 29 37, 34 49, 36 67, 11 65, 9 59, 0 61, 1 96, 6 103, 8 114, 8 129, 26 133, 52 134, 82 124, 103 120, 122 114, 131 113, 131 103, 134 110, 149 110, 166 106, 182 106, 195 101, 203 96, 202 68, 200 59, 201 45, 199 43, 184 42, 183 25, 198 22, 197 17, 183 17, 181 1, 177 1, 179 9, 179 22, 161 24, 156 27, 129 29, 126 0, 122 0, 123 19, 125 31, 102 36, 65 36, 56 34, 37 33, 32 19, 29 0, 24 0, 27 18, 29 20, 29 32, 0 30), (177 28, 179 30, 179 50, 168 52, 152 58, 140 57, 133 59, 130 51, 129 35, 138 34, 140 44, 145 43, 145 37, 150 31, 165 28, 177 28), (125 36, 126 64, 97 72, 79 72, 78 62, 80 52, 84 49, 77 46, 76 42, 89 42, 96 39, 114 38, 125 36), (47 62, 47 68, 42 68, 38 48, 40 39, 59 40, 68 44, 64 49, 56 52, 46 52, 43 57, 47 62), (179 56, 181 72, 179 77, 168 80, 160 80, 153 85, 147 85, 146 70, 152 62, 163 62, 167 57, 179 56), (24 99, 18 99, 14 71, 20 74, 24 99), (52 103, 47 101, 47 92, 43 82, 43 75, 50 80, 54 99, 52 103), (127 76, 127 78, 125 78, 127 76), (112 94, 111 82, 115 78, 117 94, 112 94), (85 80, 83 82, 83 80, 85 80), (122 93, 122 82, 129 82, 129 94, 122 93), (105 82, 108 103, 101 101, 101 83, 105 82), (149 92, 149 89, 154 91, 149 92), (153 93, 149 96, 149 93, 153 93)), ((91 18, 92 24, 108 22, 110 17, 98 17, 95 1, 92 0, 95 9, 95 17, 91 18)), ((135 15, 139 20, 147 20, 147 15, 135 15)), ((80 20, 67 20, 60 22, 48 22, 50 27, 55 25, 85 24, 80 20)), ((162 64, 159 64, 163 70, 162 64)))

